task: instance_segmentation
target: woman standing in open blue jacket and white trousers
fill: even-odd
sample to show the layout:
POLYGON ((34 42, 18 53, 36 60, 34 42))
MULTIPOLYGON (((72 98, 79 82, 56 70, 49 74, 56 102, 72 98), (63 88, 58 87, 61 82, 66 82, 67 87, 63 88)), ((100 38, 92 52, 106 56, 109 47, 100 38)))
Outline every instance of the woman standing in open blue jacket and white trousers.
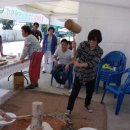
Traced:
POLYGON ((53 27, 49 27, 48 34, 45 35, 43 40, 43 73, 46 73, 47 68, 49 68, 49 72, 51 72, 52 70, 53 54, 55 53, 55 50, 57 48, 57 37, 54 35, 54 32, 55 29, 53 27))

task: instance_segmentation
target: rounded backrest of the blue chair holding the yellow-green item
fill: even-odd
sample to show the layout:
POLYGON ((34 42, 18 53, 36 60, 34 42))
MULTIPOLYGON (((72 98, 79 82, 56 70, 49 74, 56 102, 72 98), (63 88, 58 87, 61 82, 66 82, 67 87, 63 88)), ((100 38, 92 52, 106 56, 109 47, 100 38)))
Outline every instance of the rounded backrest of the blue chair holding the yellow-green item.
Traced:
POLYGON ((126 56, 120 51, 112 51, 105 56, 105 62, 121 71, 126 67, 126 56))

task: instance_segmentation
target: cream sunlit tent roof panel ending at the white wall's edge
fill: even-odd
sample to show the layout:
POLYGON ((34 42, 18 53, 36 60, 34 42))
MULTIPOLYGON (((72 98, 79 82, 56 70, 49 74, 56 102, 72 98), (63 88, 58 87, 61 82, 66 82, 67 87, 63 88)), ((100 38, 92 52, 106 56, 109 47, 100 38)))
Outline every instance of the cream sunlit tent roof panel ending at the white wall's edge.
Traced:
POLYGON ((53 2, 35 2, 18 6, 21 10, 44 14, 53 19, 65 21, 68 18, 77 20, 79 9, 78 1, 53 1, 53 2), (72 6, 74 5, 74 6, 72 6))

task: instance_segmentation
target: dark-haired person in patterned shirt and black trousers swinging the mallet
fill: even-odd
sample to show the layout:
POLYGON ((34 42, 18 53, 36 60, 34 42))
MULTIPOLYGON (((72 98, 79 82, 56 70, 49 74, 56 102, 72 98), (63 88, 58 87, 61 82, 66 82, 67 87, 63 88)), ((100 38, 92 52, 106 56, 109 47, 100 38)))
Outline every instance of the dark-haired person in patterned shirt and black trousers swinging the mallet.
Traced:
POLYGON ((90 104, 95 88, 97 65, 103 54, 103 50, 98 45, 101 41, 102 35, 100 30, 94 29, 89 32, 88 41, 81 42, 77 48, 76 60, 74 62, 75 79, 68 100, 66 116, 71 115, 82 85, 86 87, 85 108, 88 112, 93 112, 90 104))

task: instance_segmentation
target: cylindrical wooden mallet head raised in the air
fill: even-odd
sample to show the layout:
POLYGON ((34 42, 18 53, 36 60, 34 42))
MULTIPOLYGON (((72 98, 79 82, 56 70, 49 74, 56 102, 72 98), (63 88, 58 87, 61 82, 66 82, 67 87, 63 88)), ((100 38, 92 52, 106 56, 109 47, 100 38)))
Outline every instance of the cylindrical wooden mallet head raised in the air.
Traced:
POLYGON ((73 33, 80 33, 81 32, 81 26, 77 23, 75 23, 72 19, 68 19, 65 21, 65 28, 70 30, 73 33))

